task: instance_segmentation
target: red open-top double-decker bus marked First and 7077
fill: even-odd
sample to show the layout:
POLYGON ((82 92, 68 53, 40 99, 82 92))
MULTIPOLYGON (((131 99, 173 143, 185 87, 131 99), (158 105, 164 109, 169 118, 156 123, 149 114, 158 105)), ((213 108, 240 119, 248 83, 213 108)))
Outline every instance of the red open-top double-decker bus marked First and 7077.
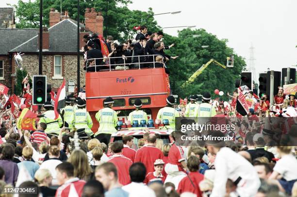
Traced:
POLYGON ((93 120, 93 132, 99 128, 95 115, 107 97, 115 100, 113 109, 119 111, 118 119, 125 122, 135 110, 136 98, 142 100, 148 118, 155 120, 170 94, 169 78, 163 67, 87 72, 85 80, 86 106, 93 120))

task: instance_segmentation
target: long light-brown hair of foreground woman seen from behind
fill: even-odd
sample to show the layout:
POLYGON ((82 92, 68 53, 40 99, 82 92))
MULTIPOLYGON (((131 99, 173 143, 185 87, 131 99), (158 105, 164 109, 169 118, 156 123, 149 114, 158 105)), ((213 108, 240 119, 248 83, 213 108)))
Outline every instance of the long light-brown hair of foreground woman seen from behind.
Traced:
POLYGON ((74 166, 74 177, 87 180, 92 173, 88 157, 82 150, 73 150, 67 162, 74 166))

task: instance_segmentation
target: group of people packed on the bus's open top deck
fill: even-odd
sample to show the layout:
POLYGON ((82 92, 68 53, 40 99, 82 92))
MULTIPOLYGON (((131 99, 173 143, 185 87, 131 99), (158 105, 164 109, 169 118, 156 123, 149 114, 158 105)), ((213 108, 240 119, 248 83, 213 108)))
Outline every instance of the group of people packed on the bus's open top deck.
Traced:
POLYGON ((114 40, 113 36, 107 36, 104 40, 101 35, 93 33, 85 35, 83 41, 86 45, 84 52, 84 69, 87 72, 99 70, 124 70, 144 67, 164 67, 170 59, 178 56, 170 56, 165 53, 163 32, 148 32, 148 28, 140 26, 140 32, 135 39, 129 39, 123 43, 114 40))

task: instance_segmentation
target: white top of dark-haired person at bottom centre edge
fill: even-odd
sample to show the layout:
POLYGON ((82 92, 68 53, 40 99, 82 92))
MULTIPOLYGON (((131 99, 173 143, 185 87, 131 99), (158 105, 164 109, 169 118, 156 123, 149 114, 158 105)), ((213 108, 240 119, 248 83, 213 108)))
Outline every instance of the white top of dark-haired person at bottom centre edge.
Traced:
POLYGON ((129 193, 129 197, 155 197, 155 192, 143 182, 132 182, 122 187, 129 193))

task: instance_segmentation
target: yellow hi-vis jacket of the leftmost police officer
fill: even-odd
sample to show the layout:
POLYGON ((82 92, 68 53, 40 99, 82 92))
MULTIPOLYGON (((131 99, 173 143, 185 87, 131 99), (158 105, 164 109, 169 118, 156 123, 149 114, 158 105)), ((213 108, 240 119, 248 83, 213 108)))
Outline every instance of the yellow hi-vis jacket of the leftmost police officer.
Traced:
MULTIPOLYGON (((46 111, 44 114, 54 114, 53 110, 46 111)), ((60 127, 63 125, 63 120, 61 115, 59 115, 58 119, 51 119, 48 117, 41 117, 39 122, 44 122, 47 124, 47 129, 45 130, 46 133, 56 133, 59 134, 60 127)))

